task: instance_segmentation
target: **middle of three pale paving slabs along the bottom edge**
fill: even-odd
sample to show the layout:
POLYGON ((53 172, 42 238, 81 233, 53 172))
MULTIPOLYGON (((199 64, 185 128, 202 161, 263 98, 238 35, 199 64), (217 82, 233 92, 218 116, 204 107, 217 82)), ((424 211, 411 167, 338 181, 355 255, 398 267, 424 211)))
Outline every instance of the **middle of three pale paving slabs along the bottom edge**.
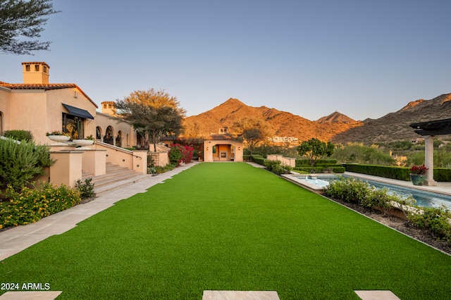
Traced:
MULTIPOLYGON (((202 300, 280 300, 273 291, 204 291, 202 300)), ((3 299, 1 299, 3 300, 3 299)))

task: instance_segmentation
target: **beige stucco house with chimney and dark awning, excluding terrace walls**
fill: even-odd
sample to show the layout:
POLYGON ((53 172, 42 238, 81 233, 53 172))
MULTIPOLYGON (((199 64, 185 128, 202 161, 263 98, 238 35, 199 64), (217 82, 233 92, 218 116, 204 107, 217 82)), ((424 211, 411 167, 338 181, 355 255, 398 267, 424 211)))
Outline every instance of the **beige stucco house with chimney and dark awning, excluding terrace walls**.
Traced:
POLYGON ((110 102, 97 104, 74 83, 49 83, 44 62, 22 63, 23 83, 0 81, 0 132, 30 130, 35 142, 48 144, 46 132, 63 130, 73 139, 92 135, 107 144, 136 145, 132 126, 111 118, 110 102))

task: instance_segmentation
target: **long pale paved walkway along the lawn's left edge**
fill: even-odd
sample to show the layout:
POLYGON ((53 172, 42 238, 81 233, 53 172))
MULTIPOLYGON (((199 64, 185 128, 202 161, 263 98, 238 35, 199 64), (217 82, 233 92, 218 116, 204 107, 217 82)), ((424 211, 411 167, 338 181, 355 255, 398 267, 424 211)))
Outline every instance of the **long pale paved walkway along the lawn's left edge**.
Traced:
POLYGON ((197 162, 188 163, 169 172, 157 176, 149 176, 149 178, 135 182, 132 185, 105 192, 86 204, 79 204, 66 211, 49 215, 36 223, 19 225, 0 232, 0 261, 47 239, 51 235, 61 235, 61 233, 75 227, 82 220, 113 206, 117 201, 127 199, 138 193, 145 193, 149 187, 162 183, 164 180, 168 180, 173 175, 183 172, 196 164, 197 162))

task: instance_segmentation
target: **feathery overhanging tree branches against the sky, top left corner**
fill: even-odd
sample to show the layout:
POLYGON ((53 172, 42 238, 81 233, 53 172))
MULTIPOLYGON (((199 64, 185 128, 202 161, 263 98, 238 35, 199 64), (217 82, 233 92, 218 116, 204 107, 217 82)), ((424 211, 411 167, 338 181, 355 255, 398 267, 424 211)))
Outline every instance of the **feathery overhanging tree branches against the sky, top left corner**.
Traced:
POLYGON ((51 0, 0 0, 0 52, 32 54, 49 50, 51 42, 40 42, 41 32, 49 18, 58 13, 51 0), (32 40, 23 40, 22 38, 32 40))

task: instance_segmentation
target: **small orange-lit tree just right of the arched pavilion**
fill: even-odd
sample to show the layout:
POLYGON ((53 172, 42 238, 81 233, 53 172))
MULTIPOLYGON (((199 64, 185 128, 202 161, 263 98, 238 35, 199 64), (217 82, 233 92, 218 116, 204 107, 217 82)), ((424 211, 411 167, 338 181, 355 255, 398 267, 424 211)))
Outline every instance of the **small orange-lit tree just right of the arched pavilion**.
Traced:
POLYGON ((233 132, 238 138, 242 139, 251 155, 256 146, 273 134, 268 123, 257 118, 242 118, 234 122, 233 132))

